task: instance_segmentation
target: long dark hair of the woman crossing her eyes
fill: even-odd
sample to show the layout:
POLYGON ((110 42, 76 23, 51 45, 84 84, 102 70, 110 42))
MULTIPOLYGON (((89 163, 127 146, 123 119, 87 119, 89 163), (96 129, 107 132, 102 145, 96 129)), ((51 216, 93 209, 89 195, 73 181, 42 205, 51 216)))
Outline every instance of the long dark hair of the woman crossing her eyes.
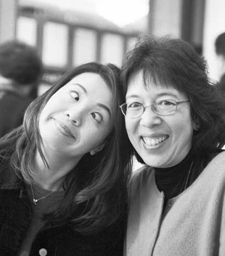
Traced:
POLYGON ((0 154, 12 148, 10 162, 19 177, 31 183, 35 179, 33 156, 40 146, 38 121, 50 97, 78 74, 99 74, 109 86, 114 97, 114 127, 105 139, 105 147, 94 156, 86 154, 71 170, 63 184, 65 197, 53 213, 44 215, 46 220, 71 221, 77 231, 97 232, 113 224, 126 211, 126 184, 130 177, 131 163, 129 141, 119 105, 124 101, 120 83, 120 68, 113 64, 95 62, 83 64, 66 74, 57 84, 34 100, 27 108, 22 126, 2 138, 0 154), (12 145, 15 145, 14 148, 12 145))

